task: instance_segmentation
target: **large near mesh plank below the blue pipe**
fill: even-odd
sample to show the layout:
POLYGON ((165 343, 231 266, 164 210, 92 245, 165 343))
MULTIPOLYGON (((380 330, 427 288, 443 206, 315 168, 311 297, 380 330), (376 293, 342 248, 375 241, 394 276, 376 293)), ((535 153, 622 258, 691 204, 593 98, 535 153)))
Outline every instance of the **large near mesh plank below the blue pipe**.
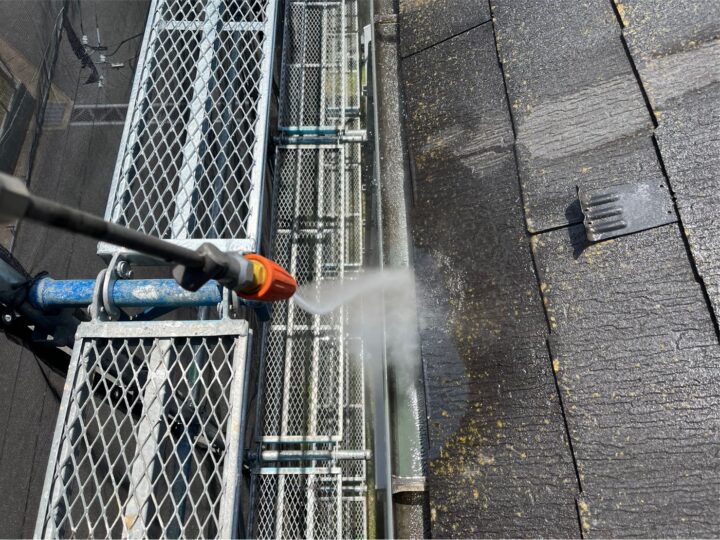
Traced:
POLYGON ((78 338, 36 536, 236 534, 247 322, 87 323, 78 338))

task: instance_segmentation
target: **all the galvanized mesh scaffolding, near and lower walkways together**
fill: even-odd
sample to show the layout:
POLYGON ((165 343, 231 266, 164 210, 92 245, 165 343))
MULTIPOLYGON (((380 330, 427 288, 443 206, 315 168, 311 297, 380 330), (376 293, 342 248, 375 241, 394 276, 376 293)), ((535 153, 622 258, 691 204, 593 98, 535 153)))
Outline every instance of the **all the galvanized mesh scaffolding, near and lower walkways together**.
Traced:
MULTIPOLYGON (((188 248, 259 251, 272 170, 270 255, 301 286, 351 280, 364 259, 357 2, 284 4, 267 156, 275 9, 153 0, 106 218, 188 248)), ((183 320, 128 322, 108 291, 124 262, 146 260, 102 243, 98 253, 110 262, 78 330, 36 535, 364 538, 370 452, 352 310, 282 302, 250 324, 215 291, 215 319, 204 303, 183 320)))

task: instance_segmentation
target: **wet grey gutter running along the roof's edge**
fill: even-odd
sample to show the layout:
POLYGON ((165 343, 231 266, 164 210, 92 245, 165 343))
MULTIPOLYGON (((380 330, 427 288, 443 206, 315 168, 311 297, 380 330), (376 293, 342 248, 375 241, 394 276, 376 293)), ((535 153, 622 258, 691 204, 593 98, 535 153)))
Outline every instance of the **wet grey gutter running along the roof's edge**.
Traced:
MULTIPOLYGON (((376 99, 376 145, 380 199, 380 235, 383 265, 411 267, 408 212, 412 186, 407 167, 407 145, 402 131, 397 11, 391 0, 374 0, 373 64, 376 99)), ((412 295, 414 302, 414 294, 412 295)), ((411 310, 416 313, 416 310, 411 310)), ((387 326, 386 322, 386 326, 387 326)), ((417 319, 404 331, 417 335, 417 319)), ((394 533, 399 538, 420 538, 427 529, 425 457, 427 434, 423 370, 419 337, 402 350, 388 350, 388 398, 394 533), (402 361, 393 356, 402 356, 402 361), (402 368, 394 366, 401 365, 402 368)))

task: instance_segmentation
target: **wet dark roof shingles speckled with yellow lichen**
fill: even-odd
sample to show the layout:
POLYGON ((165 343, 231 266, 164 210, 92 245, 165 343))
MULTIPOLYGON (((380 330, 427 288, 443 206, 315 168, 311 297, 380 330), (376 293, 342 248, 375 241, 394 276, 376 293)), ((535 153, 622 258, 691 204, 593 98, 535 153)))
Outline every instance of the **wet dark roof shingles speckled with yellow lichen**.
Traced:
POLYGON ((400 3, 433 535, 716 536, 720 6, 474 9, 400 3), (588 245, 633 182, 677 223, 588 245))

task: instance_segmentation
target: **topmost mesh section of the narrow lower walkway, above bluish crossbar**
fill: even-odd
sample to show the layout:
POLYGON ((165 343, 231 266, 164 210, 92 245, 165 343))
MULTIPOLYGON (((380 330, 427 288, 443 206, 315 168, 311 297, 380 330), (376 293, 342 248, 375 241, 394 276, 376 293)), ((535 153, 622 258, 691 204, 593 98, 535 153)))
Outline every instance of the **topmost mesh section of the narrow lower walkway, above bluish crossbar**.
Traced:
POLYGON ((345 4, 287 3, 280 90, 280 129, 322 135, 344 128, 345 4))

